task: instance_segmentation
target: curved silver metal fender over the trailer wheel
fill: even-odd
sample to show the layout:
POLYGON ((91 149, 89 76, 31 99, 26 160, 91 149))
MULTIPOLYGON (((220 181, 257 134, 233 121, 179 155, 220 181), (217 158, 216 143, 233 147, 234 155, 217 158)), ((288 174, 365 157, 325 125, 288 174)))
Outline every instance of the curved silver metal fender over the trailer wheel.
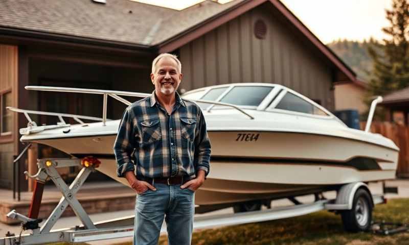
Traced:
POLYGON ((366 191, 368 191, 368 194, 371 197, 371 204, 373 207, 374 201, 372 198, 371 191, 368 188, 368 185, 363 182, 354 182, 354 183, 343 185, 341 188, 339 188, 336 194, 335 202, 325 204, 325 209, 327 210, 351 210, 353 206, 354 195, 358 189, 365 189, 366 191))

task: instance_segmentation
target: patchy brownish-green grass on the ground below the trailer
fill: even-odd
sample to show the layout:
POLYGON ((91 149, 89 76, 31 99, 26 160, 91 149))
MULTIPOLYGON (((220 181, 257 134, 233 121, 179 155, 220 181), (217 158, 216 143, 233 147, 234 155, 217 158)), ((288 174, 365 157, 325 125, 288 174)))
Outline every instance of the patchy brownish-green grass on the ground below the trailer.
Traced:
MULTIPOLYGON (((407 207, 409 199, 391 200, 386 205, 377 205, 373 218, 409 223, 407 207)), ((161 236, 159 244, 168 244, 167 236, 161 236)), ((320 211, 294 218, 197 231, 193 233, 192 244, 409 245, 409 232, 392 236, 346 233, 339 215, 320 211)))

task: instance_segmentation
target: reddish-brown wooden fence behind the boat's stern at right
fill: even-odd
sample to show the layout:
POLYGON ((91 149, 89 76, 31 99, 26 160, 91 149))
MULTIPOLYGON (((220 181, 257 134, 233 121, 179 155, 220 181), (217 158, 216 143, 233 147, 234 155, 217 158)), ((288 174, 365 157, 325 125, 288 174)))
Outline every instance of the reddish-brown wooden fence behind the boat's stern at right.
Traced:
MULTIPOLYGON (((362 130, 365 129, 365 125, 366 122, 361 122, 362 130)), ((409 128, 392 122, 373 122, 370 131, 395 142, 400 149, 396 175, 400 178, 409 178, 409 128)))

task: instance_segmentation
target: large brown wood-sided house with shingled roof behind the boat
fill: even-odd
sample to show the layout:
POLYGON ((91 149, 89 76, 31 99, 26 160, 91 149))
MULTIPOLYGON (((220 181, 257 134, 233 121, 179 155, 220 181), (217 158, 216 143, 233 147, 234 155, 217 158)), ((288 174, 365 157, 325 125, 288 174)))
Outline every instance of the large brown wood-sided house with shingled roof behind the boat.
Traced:
MULTIPOLYGON (((164 52, 177 54, 183 64, 180 90, 278 83, 333 110, 334 84, 356 80, 278 0, 208 0, 181 11, 129 0, 0 1, 0 186, 11 187, 13 155, 24 147, 18 129, 27 126, 25 116, 7 106, 101 117, 98 95, 25 86, 149 92, 151 61, 164 52)), ((108 118, 119 118, 124 106, 108 105, 108 118)), ((58 119, 32 118, 37 124, 58 119)), ((62 154, 44 146, 33 151, 38 157, 62 154)))

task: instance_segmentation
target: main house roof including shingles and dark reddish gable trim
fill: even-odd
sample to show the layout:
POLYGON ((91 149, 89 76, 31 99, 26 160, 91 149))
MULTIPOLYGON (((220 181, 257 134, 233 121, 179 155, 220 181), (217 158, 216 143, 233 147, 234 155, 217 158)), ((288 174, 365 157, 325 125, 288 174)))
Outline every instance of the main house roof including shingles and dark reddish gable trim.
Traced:
POLYGON ((264 3, 271 3, 300 35, 340 71, 342 76, 336 81, 356 81, 352 69, 279 0, 234 0, 226 4, 207 0, 181 11, 129 0, 107 0, 106 4, 91 0, 2 0, 0 34, 10 30, 11 35, 30 31, 26 35, 35 32, 59 35, 64 40, 87 38, 88 41, 102 43, 110 41, 125 46, 153 47, 162 53, 173 51, 264 3))

